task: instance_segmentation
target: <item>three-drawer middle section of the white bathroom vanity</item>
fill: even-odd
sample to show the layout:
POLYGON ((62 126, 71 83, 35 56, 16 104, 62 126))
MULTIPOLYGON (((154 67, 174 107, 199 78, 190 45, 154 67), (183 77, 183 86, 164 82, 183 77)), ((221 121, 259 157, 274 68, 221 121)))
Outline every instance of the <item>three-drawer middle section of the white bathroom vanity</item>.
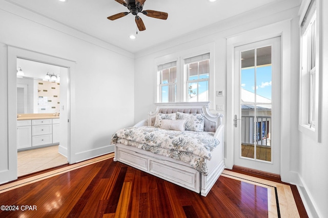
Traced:
POLYGON ((52 119, 32 119, 32 147, 52 143, 52 119))

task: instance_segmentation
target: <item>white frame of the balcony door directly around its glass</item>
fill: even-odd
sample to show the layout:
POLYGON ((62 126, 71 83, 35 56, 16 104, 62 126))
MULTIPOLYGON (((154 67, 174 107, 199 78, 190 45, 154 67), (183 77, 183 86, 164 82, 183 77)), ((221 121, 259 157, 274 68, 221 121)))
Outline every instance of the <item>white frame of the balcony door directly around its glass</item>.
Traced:
MULTIPOLYGON (((271 57, 272 57, 272 114, 271 114, 271 161, 263 161, 260 159, 255 160, 256 154, 254 155, 254 159, 241 157, 241 120, 236 120, 237 126, 234 128, 234 164, 242 167, 256 169, 258 171, 268 172, 272 174, 280 175, 280 127, 281 127, 281 119, 280 119, 280 110, 281 110, 281 94, 280 94, 280 83, 281 83, 281 37, 269 38, 253 43, 248 43, 241 46, 235 47, 235 108, 234 114, 237 115, 238 119, 241 119, 241 110, 240 110, 240 52, 256 50, 261 47, 271 46, 271 57), (238 51, 236 53, 236 51, 238 51), (236 149, 238 149, 236 151, 236 149)), ((256 53, 254 53, 256 55, 256 53)), ((255 56, 256 58, 257 56, 255 56)), ((254 66, 258 67, 258 66, 254 66)), ((254 73, 256 70, 254 70, 254 73)), ((255 77, 256 78, 256 77, 255 77)), ((255 82, 255 81, 254 81, 255 82)), ((255 83, 254 83, 255 84, 255 83)), ((255 100, 257 102, 257 100, 255 100)), ((256 110, 254 110, 255 112, 256 110)), ((257 113, 256 113, 257 115, 257 113)), ((253 123, 254 127, 254 123, 253 123)), ((256 131, 254 127, 254 131, 256 131)), ((256 147, 254 147, 256 149, 256 147)))

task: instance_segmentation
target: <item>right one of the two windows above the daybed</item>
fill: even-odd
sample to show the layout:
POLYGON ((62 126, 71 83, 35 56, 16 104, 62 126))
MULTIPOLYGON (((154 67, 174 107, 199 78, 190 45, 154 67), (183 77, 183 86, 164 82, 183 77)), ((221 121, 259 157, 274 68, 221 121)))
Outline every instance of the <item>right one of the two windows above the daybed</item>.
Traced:
POLYGON ((209 101, 210 53, 185 59, 188 102, 209 101))

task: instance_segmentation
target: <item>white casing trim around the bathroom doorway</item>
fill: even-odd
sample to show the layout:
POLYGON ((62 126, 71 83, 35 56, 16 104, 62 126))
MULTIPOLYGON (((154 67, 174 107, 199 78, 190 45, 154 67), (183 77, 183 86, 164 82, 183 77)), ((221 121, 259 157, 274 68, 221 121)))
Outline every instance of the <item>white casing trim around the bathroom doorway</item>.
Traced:
MULTIPOLYGON (((63 124, 63 127, 60 128, 60 145, 63 142, 62 153, 65 153, 67 156, 67 161, 70 163, 72 154, 74 154, 74 148, 71 146, 71 93, 74 94, 74 84, 71 83, 71 75, 74 75, 76 62, 73 60, 65 59, 62 57, 56 57, 54 55, 40 53, 36 51, 31 51, 23 49, 21 47, 16 47, 12 45, 5 45, 7 53, 7 96, 8 107, 5 110, 7 118, 7 130, 4 133, 7 135, 6 144, 7 146, 3 147, 3 153, 1 155, 2 171, 0 171, 0 183, 6 183, 17 179, 17 73, 20 68, 17 69, 17 58, 26 59, 30 61, 36 61, 40 63, 47 63, 55 66, 60 66, 66 68, 66 73, 60 75, 60 83, 66 81, 67 83, 67 92, 62 96, 66 96, 66 106, 60 107, 60 126, 63 124), (71 86, 73 88, 71 88, 71 86), (63 122, 61 122, 63 119, 63 122), (61 137, 65 137, 64 139, 61 137), (64 144, 66 143, 65 147, 64 144)), ((24 71, 24 68, 22 69, 24 71)), ((74 106, 74 104, 73 104, 74 106)), ((49 120, 48 120, 49 122, 49 120)), ((37 122, 36 122, 37 123, 37 122)), ((52 124, 52 122, 51 122, 52 124)), ((34 125, 37 125, 34 123, 34 125)), ((50 122, 49 122, 50 125, 50 122)), ((32 124, 31 124, 32 126, 32 124)), ((50 128, 47 129, 50 131, 50 128)), ((42 128, 38 129, 42 131, 42 128)), ((50 134, 50 133, 49 133, 50 134)), ((41 139, 42 140, 42 139, 41 139)), ((59 148, 58 148, 59 149, 59 148)))

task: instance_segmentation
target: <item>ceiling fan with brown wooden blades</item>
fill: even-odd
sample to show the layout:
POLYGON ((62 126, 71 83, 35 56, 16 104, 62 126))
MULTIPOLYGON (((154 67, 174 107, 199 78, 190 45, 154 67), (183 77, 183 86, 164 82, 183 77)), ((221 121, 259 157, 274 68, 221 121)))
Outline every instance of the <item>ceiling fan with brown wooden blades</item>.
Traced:
POLYGON ((145 14, 146 16, 154 17, 154 18, 157 18, 157 19, 166 20, 168 18, 168 13, 166 13, 166 12, 153 11, 153 10, 142 11, 142 9, 144 8, 144 4, 145 4, 146 0, 126 0, 126 1, 124 1, 124 0, 115 0, 115 1, 118 2, 119 4, 122 4, 125 7, 127 7, 130 12, 121 12, 121 13, 109 16, 107 18, 110 19, 110 20, 116 20, 118 18, 124 17, 124 16, 132 13, 133 15, 135 15, 135 22, 137 24, 137 27, 138 27, 139 31, 146 30, 144 22, 142 21, 141 17, 138 16, 139 12, 142 13, 142 14, 145 14))

